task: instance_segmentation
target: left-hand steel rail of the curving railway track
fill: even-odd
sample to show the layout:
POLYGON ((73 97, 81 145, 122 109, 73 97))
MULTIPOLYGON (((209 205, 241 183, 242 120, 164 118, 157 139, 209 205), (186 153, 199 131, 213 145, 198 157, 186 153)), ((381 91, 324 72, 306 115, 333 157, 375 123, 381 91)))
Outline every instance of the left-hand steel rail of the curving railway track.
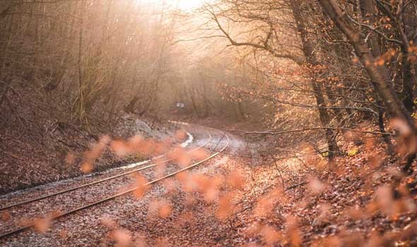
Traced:
MULTIPOLYGON (((210 141, 211 141, 211 134, 209 133, 209 140, 208 140, 208 141, 206 141, 206 143, 204 143, 204 145, 201 145, 201 146, 199 146, 199 147, 196 147, 196 148, 194 148, 194 149, 192 149, 192 150, 189 150, 189 151, 187 151, 187 152, 194 152, 195 150, 199 150, 200 148, 202 148, 202 147, 204 147, 205 145, 209 144, 209 143, 210 143, 210 141)), ((161 157, 161 156, 165 156, 165 155, 160 155, 159 157, 161 157)), ((152 159, 154 159, 154 158, 155 158, 155 157, 153 157, 152 159)), ((131 170, 131 171, 127 171, 127 172, 124 172, 124 173, 122 173, 122 174, 117 174, 117 175, 114 175, 114 176, 107 177, 107 178, 105 178, 105 179, 100 179, 100 180, 98 180, 98 181, 93 181, 93 182, 91 182, 91 183, 86 183, 86 184, 83 184, 83 185, 81 185, 81 186, 76 186, 76 187, 74 187, 74 188, 64 189, 64 190, 62 190, 62 191, 57 191, 57 192, 50 193, 50 194, 47 194, 47 195, 42 195, 42 196, 39 196, 39 197, 37 197, 37 198, 32 198, 32 199, 28 199, 28 200, 23 200, 22 202, 19 202, 19 203, 13 203, 13 204, 11 204, 11 205, 6 205, 6 206, 4 206, 4 207, 0 207, 0 210, 7 210, 7 209, 9 209, 9 208, 11 208, 11 207, 17 207, 17 206, 20 206, 20 205, 25 205, 25 204, 28 204, 28 203, 33 203, 33 202, 35 202, 35 201, 38 201, 38 200, 43 200, 43 199, 45 199, 45 198, 50 198, 50 197, 55 196, 55 195, 61 195, 61 194, 68 193, 68 192, 71 192, 71 191, 76 191, 76 190, 78 190, 78 189, 80 189, 80 188, 85 188, 85 187, 88 187, 88 186, 93 186, 93 185, 95 185, 95 184, 97 184, 97 183, 102 183, 102 182, 109 181, 109 180, 112 180, 112 179, 117 179, 117 178, 119 178, 119 177, 121 177, 121 176, 126 176, 126 175, 129 175, 129 174, 133 174, 133 173, 135 173, 135 172, 138 172, 138 171, 142 171, 142 170, 144 170, 144 169, 148 169, 148 168, 151 168, 151 167, 155 167, 155 166, 157 166, 158 164, 165 164, 165 163, 168 163, 168 162, 172 161, 173 159, 174 159, 174 158, 172 158, 172 159, 165 159, 165 160, 164 160, 164 161, 162 161, 162 162, 153 163, 153 164, 147 165, 146 167, 141 167, 141 168, 139 168, 139 169, 134 169, 134 170, 131 170)), ((151 159, 149 159, 149 160, 151 160, 151 159)))

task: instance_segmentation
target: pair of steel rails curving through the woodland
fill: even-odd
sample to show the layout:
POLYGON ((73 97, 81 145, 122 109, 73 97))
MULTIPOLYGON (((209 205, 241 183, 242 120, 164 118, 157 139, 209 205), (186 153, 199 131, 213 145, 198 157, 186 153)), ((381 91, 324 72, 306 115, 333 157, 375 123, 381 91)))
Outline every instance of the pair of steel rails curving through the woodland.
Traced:
MULTIPOLYGON (((213 129, 213 128, 212 128, 212 129, 213 129)), ((213 130, 214 130, 214 129, 213 129, 213 130)), ((216 130, 216 131, 217 131, 217 130, 216 130)), ((196 148, 194 148, 193 150, 198 150, 199 148, 206 146, 208 143, 210 143, 210 141, 211 141, 211 135, 209 134, 209 140, 208 140, 206 143, 204 143, 204 145, 201 145, 201 146, 199 146, 199 147, 196 147, 196 148)), ((221 137, 221 139, 218 141, 218 143, 216 144, 216 146, 213 148, 213 152, 214 152, 214 153, 213 153, 213 154, 211 154, 209 157, 206 157, 205 159, 201 159, 199 162, 195 162, 194 164, 191 164, 191 165, 189 165, 188 167, 184 167, 184 168, 182 168, 182 169, 179 169, 179 170, 177 170, 177 171, 174 171, 174 172, 172 172, 172 173, 170 173, 170 174, 168 174, 168 175, 166 175, 166 176, 162 176, 162 177, 160 177, 160 178, 158 178, 158 179, 154 179, 154 180, 152 180, 152 181, 149 181, 148 183, 146 183, 146 184, 145 184, 145 186, 151 186, 153 183, 158 183, 159 181, 163 181, 164 179, 168 179, 168 178, 170 178, 170 177, 172 177, 172 176, 175 176, 176 174, 179 174, 179 173, 181 173, 182 171, 186 171, 186 170, 192 169, 192 168, 194 168, 194 167, 198 166, 199 164, 201 164, 201 163, 204 163, 204 162, 208 161, 209 159, 213 159, 213 157, 218 156, 219 154, 221 154, 221 152, 223 152, 226 148, 228 148, 228 146, 229 146, 229 145, 230 145, 230 138, 229 138, 229 137, 228 137, 228 135, 226 135, 225 133, 222 133, 222 137, 221 137), (224 138, 226 139, 226 144, 225 144, 223 147, 221 147, 221 149, 220 149, 219 151, 217 151, 217 152, 216 152, 216 148, 218 147, 218 145, 221 143, 221 141, 222 141, 224 138)), ((193 150, 191 150, 191 151, 193 151, 193 150)), ((191 151, 189 151, 189 152, 191 152, 191 151)), ((117 174, 117 175, 115 175, 115 176, 111 176, 111 177, 108 177, 108 178, 106 178, 106 179, 100 179, 99 181, 94 181, 94 182, 92 182, 92 183, 87 183, 87 184, 85 184, 85 185, 83 185, 83 186, 77 186, 77 187, 74 187, 74 188, 69 188, 69 189, 67 189, 67 190, 59 191, 59 192, 57 192, 57 193, 51 193, 51 194, 49 194, 49 195, 45 195, 45 196, 42 196, 42 197, 39 197, 39 198, 34 198, 34 199, 30 199, 30 200, 24 200, 24 201, 23 201, 23 202, 21 202, 21 203, 16 203, 16 204, 13 204, 13 205, 8 205, 8 206, 3 207, 3 208, 17 207, 18 205, 23 205, 23 204, 33 203, 33 202, 36 202, 36 201, 38 201, 38 200, 42 200, 42 199, 45 199, 45 198, 52 197, 52 196, 54 196, 54 195, 63 194, 63 193, 69 192, 69 191, 75 191, 75 190, 78 190, 78 189, 80 189, 80 188, 85 188, 85 187, 87 187, 87 186, 92 186, 92 185, 94 185, 94 184, 101 183, 101 182, 103 182, 103 181, 109 181, 109 180, 115 179, 115 178, 120 177, 120 176, 126 176, 127 174, 132 174, 132 173, 134 173, 134 172, 138 172, 138 171, 142 171, 142 170, 144 170, 144 169, 148 169, 148 168, 151 168, 151 167, 155 167, 155 166, 156 166, 156 165, 158 165, 158 164, 161 164, 161 163, 166 163, 166 162, 170 162, 171 160, 172 160, 172 159, 167 159, 167 160, 164 160, 163 162, 159 162, 159 163, 151 164, 151 165, 148 165, 148 166, 146 166, 146 167, 141 167, 141 168, 139 168, 139 169, 134 169, 134 170, 132 170, 132 171, 125 172, 125 173, 123 173, 123 174, 117 174)), ((85 210, 85 209, 87 209, 87 208, 89 208, 89 207, 93 207, 93 206, 95 206, 95 205, 100 205, 100 204, 102 204, 102 203, 105 203, 105 202, 107 202, 107 201, 113 200, 113 199, 115 199, 115 198, 122 197, 123 195, 128 195, 129 193, 131 193, 131 192, 135 191, 136 189, 137 189, 136 187, 135 187, 135 188, 129 188, 129 189, 127 189, 126 191, 122 191, 121 193, 117 193, 117 194, 114 194, 114 195, 108 196, 107 198, 102 198, 102 199, 100 199, 100 200, 96 200, 96 201, 95 201, 95 202, 93 202, 93 203, 88 203, 87 205, 83 205, 83 206, 81 206, 81 207, 76 207, 75 209, 72 209, 72 210, 67 210, 67 211, 65 211, 65 212, 59 212, 59 213, 57 213, 57 214, 54 214, 54 215, 53 215, 53 217, 52 217, 51 219, 52 219, 52 220, 54 220, 54 219, 59 219, 59 218, 61 218, 61 217, 65 217, 65 216, 67 216, 67 215, 72 215, 72 214, 74 214, 75 212, 78 212, 78 211, 81 211, 81 210, 85 210)), ((3 209, 3 208, 2 208, 2 209, 3 209)), ((32 227, 34 227, 34 224, 28 224, 28 225, 25 225, 25 226, 23 226, 23 227, 19 227, 19 228, 17 228, 17 229, 13 229, 13 230, 11 230, 11 231, 6 231, 6 232, 4 232, 4 233, 0 234, 0 239, 4 239, 5 237, 7 237, 7 236, 12 236, 12 235, 14 235, 14 234, 18 234, 19 232, 22 232, 22 231, 28 230, 28 229, 30 229, 30 228, 32 228, 32 227)))

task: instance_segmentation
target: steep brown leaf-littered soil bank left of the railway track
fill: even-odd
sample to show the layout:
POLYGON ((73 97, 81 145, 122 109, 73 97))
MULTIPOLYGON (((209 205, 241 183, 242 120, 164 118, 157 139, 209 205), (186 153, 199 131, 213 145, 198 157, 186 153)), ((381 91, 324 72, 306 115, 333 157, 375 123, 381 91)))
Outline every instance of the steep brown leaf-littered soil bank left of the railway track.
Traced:
MULTIPOLYGON (((172 136, 174 126, 134 114, 96 113, 88 124, 69 120, 61 104, 33 89, 12 88, 0 104, 0 193, 67 179, 82 174, 84 153, 103 135, 110 138, 163 139, 172 136)), ((143 157, 118 159, 111 152, 95 162, 100 171, 138 161, 143 157)))

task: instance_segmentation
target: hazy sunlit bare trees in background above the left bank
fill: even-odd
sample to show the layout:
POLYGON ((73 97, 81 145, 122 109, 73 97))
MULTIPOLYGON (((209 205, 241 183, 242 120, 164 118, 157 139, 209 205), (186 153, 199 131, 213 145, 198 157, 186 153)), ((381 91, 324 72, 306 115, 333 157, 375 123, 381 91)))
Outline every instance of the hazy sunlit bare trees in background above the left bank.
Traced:
POLYGON ((158 116, 177 101, 198 117, 234 117, 242 103, 215 90, 233 76, 211 70, 212 54, 186 49, 198 42, 175 42, 189 35, 182 25, 195 28, 189 16, 165 1, 0 1, 0 107, 10 108, 3 102, 15 87, 58 102, 61 121, 80 124, 97 114, 113 123, 121 111, 158 116))

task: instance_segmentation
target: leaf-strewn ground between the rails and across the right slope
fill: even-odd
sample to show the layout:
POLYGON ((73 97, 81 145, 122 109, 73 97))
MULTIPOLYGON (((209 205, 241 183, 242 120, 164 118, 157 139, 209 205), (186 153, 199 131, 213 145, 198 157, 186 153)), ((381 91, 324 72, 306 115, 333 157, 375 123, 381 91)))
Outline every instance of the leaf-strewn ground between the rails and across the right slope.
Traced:
MULTIPOLYGON (((126 128, 138 123, 132 116, 126 120, 126 128)), ((140 128, 144 127, 141 123, 140 128)), ((153 136, 170 135, 166 131, 169 129, 166 127, 153 136)), ((207 129, 188 131, 194 135, 192 147, 207 140, 207 129)), ((218 131, 211 131, 211 135, 213 140, 206 148, 224 144, 218 131)), ((399 161, 385 157, 384 147, 367 140, 358 145, 352 142, 344 147, 349 152, 336 158, 333 164, 327 164, 327 159, 318 155, 271 162, 262 155, 267 148, 255 150, 256 142, 229 135, 233 141, 225 153, 184 176, 153 186, 143 197, 129 195, 57 222, 41 222, 51 229, 44 231, 41 224, 41 229, 37 229, 41 232, 25 231, 0 243, 4 246, 416 246, 414 188, 404 192, 401 191, 404 186, 399 186, 414 185, 416 174, 400 174, 399 161), (400 195, 394 196, 389 186, 399 188, 400 195)), ((97 163, 107 162, 110 160, 100 158, 97 163)), ((177 164, 169 164, 165 172, 176 169, 177 164)), ((0 202, 6 205, 117 172, 12 193, 2 196, 0 202)), ((155 171, 144 171, 143 176, 152 179, 155 171)), ((67 207, 120 191, 134 181, 134 177, 123 177, 86 191, 71 192, 69 197, 60 195, 44 203, 2 212, 0 229, 13 229, 13 225, 22 221, 21 215, 25 219, 42 218, 62 202, 67 203, 59 210, 68 210, 67 207)))

